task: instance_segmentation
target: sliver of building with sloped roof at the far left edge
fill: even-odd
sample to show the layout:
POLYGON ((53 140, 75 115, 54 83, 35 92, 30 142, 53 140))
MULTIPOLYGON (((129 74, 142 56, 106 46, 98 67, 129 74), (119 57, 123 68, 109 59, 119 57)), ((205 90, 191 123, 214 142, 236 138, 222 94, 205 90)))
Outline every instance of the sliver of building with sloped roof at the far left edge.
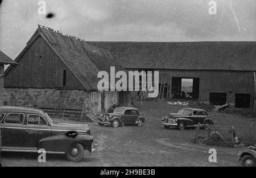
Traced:
POLYGON ((3 105, 3 88, 4 88, 4 80, 5 80, 5 65, 16 65, 15 61, 12 60, 9 56, 5 53, 0 51, 0 106, 3 105))

